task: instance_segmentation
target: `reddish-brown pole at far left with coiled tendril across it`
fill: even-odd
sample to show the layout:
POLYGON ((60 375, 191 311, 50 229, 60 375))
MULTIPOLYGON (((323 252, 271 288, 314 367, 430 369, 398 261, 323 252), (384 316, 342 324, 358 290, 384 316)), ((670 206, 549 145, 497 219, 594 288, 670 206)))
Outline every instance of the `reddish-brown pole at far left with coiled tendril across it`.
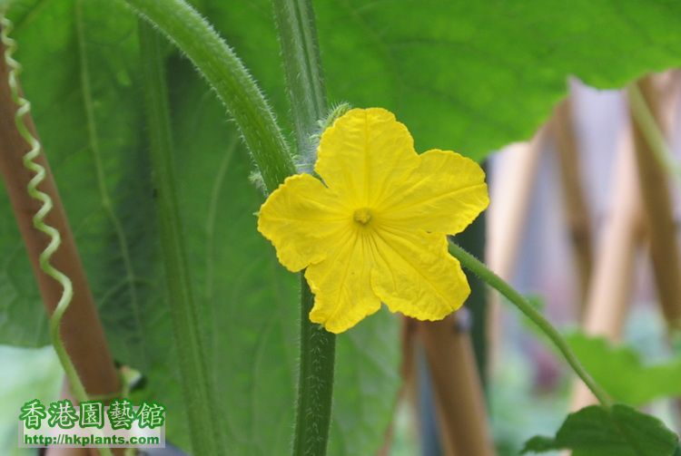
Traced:
MULTIPOLYGON (((0 44, 0 55, 4 53, 5 47, 0 44)), ((40 203, 26 193, 28 181, 33 175, 25 169, 22 160, 30 147, 15 127, 16 106, 7 84, 7 71, 5 59, 0 59, 0 174, 5 180, 5 187, 24 238, 45 310, 48 315, 52 315, 62 295, 62 288, 53 278, 44 274, 38 264, 38 257, 46 247, 48 238, 33 227, 32 218, 40 208, 40 203)), ((25 121, 29 130, 37 137, 30 115, 25 116, 25 121)), ((70 277, 74 285, 74 299, 64 314, 61 328, 66 351, 73 360, 87 393, 96 396, 118 393, 120 383, 114 361, 106 344, 104 328, 94 306, 94 299, 52 171, 44 154, 35 161, 46 170, 45 179, 39 189, 48 194, 54 202, 54 208, 45 218, 45 222, 56 228, 62 236, 62 244, 54 253, 52 264, 70 277)))

